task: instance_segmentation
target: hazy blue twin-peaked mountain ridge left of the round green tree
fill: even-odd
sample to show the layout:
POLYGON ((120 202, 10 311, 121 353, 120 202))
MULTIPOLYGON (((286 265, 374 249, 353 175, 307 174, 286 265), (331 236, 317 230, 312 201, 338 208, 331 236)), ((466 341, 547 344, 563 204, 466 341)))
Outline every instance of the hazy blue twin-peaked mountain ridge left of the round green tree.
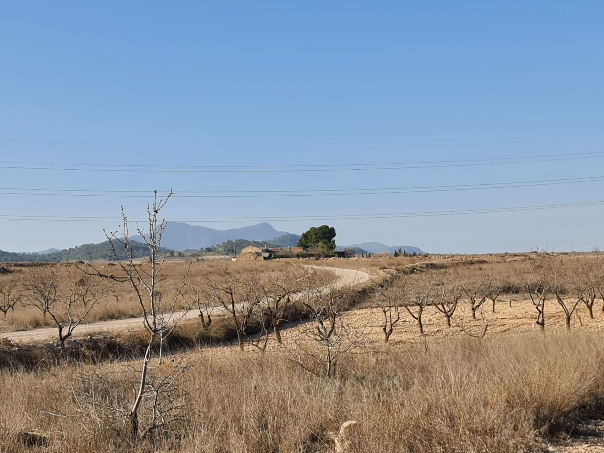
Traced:
MULTIPOLYGON (((208 228, 207 226, 189 225, 182 222, 167 222, 161 245, 182 252, 186 249, 199 250, 211 247, 227 240, 248 239, 268 241, 285 234, 290 233, 277 231, 270 223, 266 222, 258 223, 257 225, 242 226, 241 228, 231 228, 230 230, 214 230, 214 228, 208 228)), ((133 236, 130 239, 143 242, 143 238, 140 236, 133 236)))

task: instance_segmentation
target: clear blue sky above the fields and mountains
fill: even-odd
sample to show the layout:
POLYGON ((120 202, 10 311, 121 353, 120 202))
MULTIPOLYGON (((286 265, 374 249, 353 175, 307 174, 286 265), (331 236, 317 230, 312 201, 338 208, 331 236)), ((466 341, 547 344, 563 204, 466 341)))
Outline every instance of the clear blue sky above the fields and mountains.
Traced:
MULTIPOLYGON (((308 165, 604 151, 604 3, 5 2, 2 161, 308 165)), ((359 172, 0 169, 5 188, 307 190, 604 175, 604 157, 359 172)), ((11 164, 0 164, 11 166, 11 164)), ((13 164, 12 166, 15 166, 13 164)), ((22 164, 19 164, 22 165, 22 164)), ((175 198, 170 218, 407 213, 602 201, 604 182, 298 198, 175 198)), ((6 192, 7 190, 0 190, 6 192)), ((140 216, 143 198, 0 194, 0 216, 140 216)), ((271 222, 300 233, 316 223, 271 222)), ((604 246, 604 207, 329 221, 426 251, 604 246)), ((204 223, 201 223, 204 224, 204 223)), ((246 223, 205 223, 230 228, 246 223)), ((0 249, 116 222, 0 220, 0 249)))

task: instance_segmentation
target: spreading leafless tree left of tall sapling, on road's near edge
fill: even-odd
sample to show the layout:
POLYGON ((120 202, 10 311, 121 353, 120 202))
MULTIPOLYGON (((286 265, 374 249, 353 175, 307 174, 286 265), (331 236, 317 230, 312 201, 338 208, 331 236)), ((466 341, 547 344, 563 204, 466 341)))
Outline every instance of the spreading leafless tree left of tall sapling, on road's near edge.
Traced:
POLYGON ((65 355, 65 341, 89 315, 105 292, 100 282, 69 272, 68 288, 61 281, 61 266, 37 266, 30 270, 25 288, 27 303, 48 314, 59 330, 59 344, 65 355))

